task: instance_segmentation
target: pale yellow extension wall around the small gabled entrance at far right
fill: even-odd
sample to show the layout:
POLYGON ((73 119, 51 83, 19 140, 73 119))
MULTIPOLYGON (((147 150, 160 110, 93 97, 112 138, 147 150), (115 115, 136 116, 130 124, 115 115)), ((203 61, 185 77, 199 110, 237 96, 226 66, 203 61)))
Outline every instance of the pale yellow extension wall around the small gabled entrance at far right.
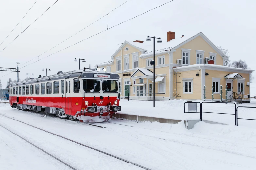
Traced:
MULTIPOLYGON (((209 73, 208 76, 205 76, 205 85, 206 85, 206 99, 212 99, 212 78, 221 78, 220 79, 220 85, 222 85, 222 98, 226 99, 226 79, 224 76, 227 74, 232 74, 233 72, 228 72, 228 71, 216 71, 216 70, 205 70, 206 73, 209 73)), ((243 78, 245 78, 245 83, 244 83, 244 95, 249 94, 249 87, 246 86, 246 83, 249 82, 249 75, 247 73, 239 73, 243 78)), ((233 92, 237 92, 237 80, 233 81, 233 92)), ((213 94, 214 99, 220 99, 220 94, 213 94)), ((244 97, 244 96, 243 96, 244 97)), ((229 96, 228 96, 229 99, 229 96)))

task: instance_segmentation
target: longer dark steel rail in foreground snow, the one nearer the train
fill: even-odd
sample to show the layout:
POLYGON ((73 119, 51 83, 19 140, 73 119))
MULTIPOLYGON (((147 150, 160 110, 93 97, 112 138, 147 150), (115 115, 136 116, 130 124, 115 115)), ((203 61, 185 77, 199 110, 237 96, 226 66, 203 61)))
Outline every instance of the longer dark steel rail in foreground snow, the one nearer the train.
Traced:
MULTIPOLYGON (((16 120, 16 119, 10 118, 10 117, 5 116, 5 115, 2 115, 2 114, 0 114, 0 115, 1 115, 1 116, 4 116, 4 117, 7 117, 7 118, 9 118, 9 119, 12 119, 12 120, 16 120)), ((141 168, 143 168, 143 169, 146 169, 146 170, 152 170, 152 169, 146 168, 146 167, 144 167, 144 166, 142 166, 142 165, 139 165, 139 164, 136 164, 136 163, 130 162, 130 161, 128 161, 128 160, 125 160, 125 159, 123 159, 123 158, 117 157, 117 156, 115 156, 115 155, 112 155, 112 154, 110 154, 110 153, 107 153, 107 152, 101 151, 101 150, 99 150, 99 149, 95 149, 95 148, 90 147, 90 146, 88 146, 88 145, 84 145, 84 144, 82 144, 82 143, 79 143, 79 142, 74 141, 74 140, 72 140, 72 139, 66 138, 66 137, 64 137, 64 136, 57 135, 57 134, 55 134, 55 133, 52 133, 52 132, 46 131, 46 130, 44 130, 44 129, 38 128, 38 127, 36 127, 36 126, 33 126, 33 125, 30 125, 30 124, 27 124, 27 123, 25 123, 25 122, 23 122, 23 121, 20 121, 20 120, 16 120, 16 121, 18 121, 18 122, 20 122, 20 123, 24 123, 24 124, 26 124, 26 125, 28 125, 28 126, 34 127, 34 128, 36 128, 36 129, 42 130, 42 131, 47 132, 47 133, 49 133, 49 134, 59 136, 59 137, 61 137, 61 138, 63 138, 63 139, 66 139, 66 140, 69 140, 69 141, 71 141, 71 142, 77 143, 77 144, 82 145, 82 146, 84 146, 84 147, 87 147, 87 148, 90 148, 90 149, 96 150, 96 151, 98 151, 98 152, 104 153, 104 154, 106 154, 106 155, 109 155, 109 156, 111 156, 111 157, 114 157, 114 158, 116 158, 116 159, 119 159, 119 160, 121 160, 121 161, 124 161, 124 162, 130 163, 130 164, 133 164, 133 165, 135 165, 135 166, 141 167, 141 168)), ((91 125, 91 124, 90 124, 90 125, 91 125)), ((24 140, 25 140, 25 139, 24 139, 24 140)), ((33 145, 33 144, 32 144, 32 145, 33 145)), ((56 158, 56 159, 57 159, 57 158, 56 158)))

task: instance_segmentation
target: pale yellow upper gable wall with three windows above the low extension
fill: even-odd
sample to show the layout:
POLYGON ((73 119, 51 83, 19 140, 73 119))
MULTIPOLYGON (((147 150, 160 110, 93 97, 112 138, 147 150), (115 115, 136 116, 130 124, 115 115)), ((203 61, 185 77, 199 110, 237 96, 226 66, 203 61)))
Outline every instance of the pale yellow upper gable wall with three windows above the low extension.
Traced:
MULTIPOLYGON (((206 41, 203 40, 201 36, 198 36, 195 39, 191 40, 190 42, 176 49, 176 52, 173 52, 173 63, 177 63, 177 59, 182 59, 181 49, 191 49, 190 65, 196 64, 196 50, 205 51, 204 58, 210 57, 209 52, 217 53, 206 41)), ((223 65, 223 59, 218 53, 216 58, 216 65, 223 65)))

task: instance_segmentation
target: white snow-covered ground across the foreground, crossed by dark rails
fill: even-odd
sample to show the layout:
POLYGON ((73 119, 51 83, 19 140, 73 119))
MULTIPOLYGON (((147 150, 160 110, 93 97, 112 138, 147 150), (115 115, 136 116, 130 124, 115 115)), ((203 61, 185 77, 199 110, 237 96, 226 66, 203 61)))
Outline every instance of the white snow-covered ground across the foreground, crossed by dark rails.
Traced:
MULTIPOLYGON (((144 106, 142 103, 139 105, 144 106)), ((122 103, 121 105, 122 110, 127 107, 122 103)), ((160 110, 156 114, 162 112, 174 115, 175 109, 180 109, 177 104, 173 106, 166 102, 165 105, 172 110, 165 113, 168 108, 163 108, 163 112, 160 110)), ((182 110, 183 105, 178 114, 184 114, 182 110)), ((183 122, 136 123, 115 119, 110 123, 95 123, 106 127, 99 128, 78 121, 12 109, 5 103, 0 103, 0 114, 153 170, 255 169, 256 129, 243 125, 242 120, 239 126, 199 122, 193 129, 187 130, 183 122)), ((254 120, 247 120, 249 121, 256 123, 254 120)), ((140 169, 1 115, 0 124, 77 169, 140 169)), ((0 169, 68 169, 2 127, 0 136, 0 169)))

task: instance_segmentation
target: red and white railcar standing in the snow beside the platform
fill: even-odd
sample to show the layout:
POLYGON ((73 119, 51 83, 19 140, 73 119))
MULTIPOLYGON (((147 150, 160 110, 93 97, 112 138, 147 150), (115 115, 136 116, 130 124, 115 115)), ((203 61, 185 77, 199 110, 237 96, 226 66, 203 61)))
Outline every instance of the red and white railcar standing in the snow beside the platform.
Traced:
POLYGON ((104 71, 84 68, 11 84, 10 105, 81 122, 107 121, 121 110, 120 85, 118 74, 104 71))

